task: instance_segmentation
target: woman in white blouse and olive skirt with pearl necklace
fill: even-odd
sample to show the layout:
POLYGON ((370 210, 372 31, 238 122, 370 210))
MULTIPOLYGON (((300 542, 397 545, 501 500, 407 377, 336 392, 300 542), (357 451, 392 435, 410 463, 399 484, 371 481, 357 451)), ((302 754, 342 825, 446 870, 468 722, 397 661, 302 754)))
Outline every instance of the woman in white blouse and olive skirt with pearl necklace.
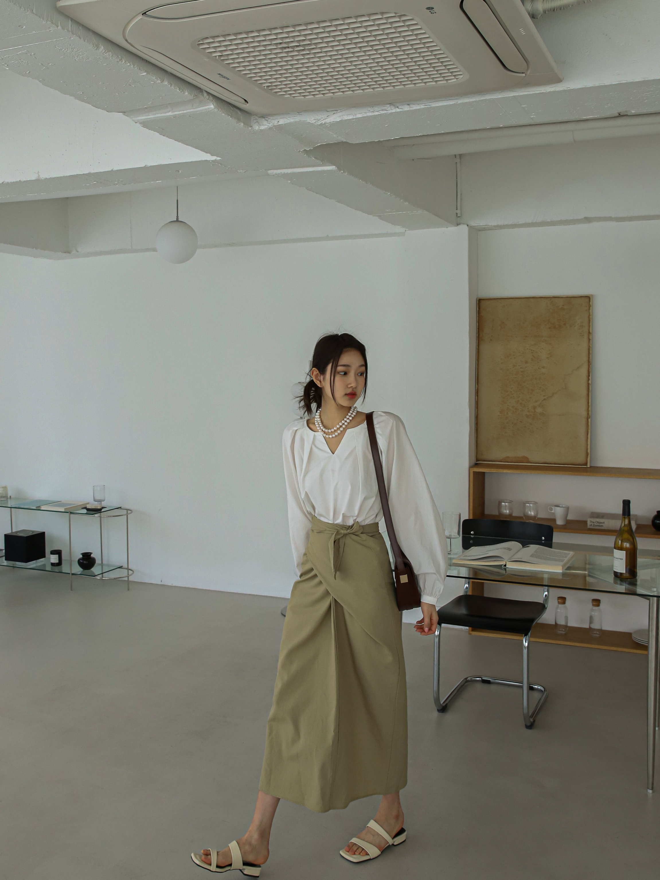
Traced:
MULTIPOLYGON (((283 436, 298 580, 257 805, 244 837, 193 854, 209 870, 259 876, 281 798, 325 812, 381 795, 375 820, 340 850, 351 862, 406 840, 399 796, 407 783, 406 668, 366 415, 356 409, 367 388, 362 342, 322 336, 310 377, 300 399, 308 418, 283 436)), ((447 570, 442 522, 403 422, 375 413, 374 425, 395 532, 421 591, 423 616, 414 628, 431 635, 447 570)))

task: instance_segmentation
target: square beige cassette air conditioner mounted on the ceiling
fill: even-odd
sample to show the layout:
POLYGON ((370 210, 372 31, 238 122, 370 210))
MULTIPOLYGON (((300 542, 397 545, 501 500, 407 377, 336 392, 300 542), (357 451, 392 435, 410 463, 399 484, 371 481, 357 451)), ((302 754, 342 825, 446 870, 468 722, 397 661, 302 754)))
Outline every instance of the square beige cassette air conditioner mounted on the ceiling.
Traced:
POLYGON ((561 76, 521 0, 59 0, 254 114, 437 100, 561 76))

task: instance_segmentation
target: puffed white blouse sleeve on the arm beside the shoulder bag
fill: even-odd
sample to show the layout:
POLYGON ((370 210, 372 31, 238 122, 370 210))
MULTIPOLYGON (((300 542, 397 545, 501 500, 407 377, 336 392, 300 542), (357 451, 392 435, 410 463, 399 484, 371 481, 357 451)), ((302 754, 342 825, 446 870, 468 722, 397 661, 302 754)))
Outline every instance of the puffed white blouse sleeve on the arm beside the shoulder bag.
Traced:
POLYGON ((375 413, 374 427, 394 531, 417 576, 422 602, 436 605, 448 568, 442 518, 399 416, 375 413))

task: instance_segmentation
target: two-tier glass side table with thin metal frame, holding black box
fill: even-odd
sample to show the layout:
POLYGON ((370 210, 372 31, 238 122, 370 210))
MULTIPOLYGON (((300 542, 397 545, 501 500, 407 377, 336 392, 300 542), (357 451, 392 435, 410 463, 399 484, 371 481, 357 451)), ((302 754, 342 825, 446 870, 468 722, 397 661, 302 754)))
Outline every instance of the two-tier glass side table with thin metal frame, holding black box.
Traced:
POLYGON ((0 501, 0 510, 3 508, 5 510, 9 510, 10 517, 10 532, 14 531, 14 511, 15 510, 32 510, 38 511, 40 513, 57 513, 62 516, 62 514, 69 517, 69 559, 63 559, 62 565, 51 565, 49 562, 49 557, 46 559, 38 559, 34 562, 12 562, 4 559, 0 559, 0 566, 6 566, 8 568, 28 568, 30 571, 49 571, 55 574, 60 575, 69 575, 69 585, 70 589, 73 590, 73 576, 80 575, 86 577, 99 577, 101 580, 111 579, 111 580, 123 580, 126 578, 127 589, 130 589, 130 576, 133 574, 133 569, 128 566, 128 517, 132 510, 129 510, 126 507, 120 507, 119 505, 104 505, 100 510, 85 510, 81 508, 80 510, 43 510, 42 505, 44 504, 57 504, 59 503, 57 500, 48 500, 44 498, 9 498, 6 501, 0 501), (79 568, 76 563, 73 561, 73 555, 71 554, 71 517, 92 517, 99 520, 99 540, 100 540, 100 562, 94 566, 94 568, 84 570, 83 568, 79 568), (106 562, 103 559, 103 520, 104 519, 112 519, 113 517, 126 517, 126 565, 123 566, 120 563, 114 564, 110 562, 106 562), (121 574, 119 577, 116 575, 109 575, 110 572, 126 572, 126 574, 121 574), (109 576, 108 576, 109 575, 109 576))

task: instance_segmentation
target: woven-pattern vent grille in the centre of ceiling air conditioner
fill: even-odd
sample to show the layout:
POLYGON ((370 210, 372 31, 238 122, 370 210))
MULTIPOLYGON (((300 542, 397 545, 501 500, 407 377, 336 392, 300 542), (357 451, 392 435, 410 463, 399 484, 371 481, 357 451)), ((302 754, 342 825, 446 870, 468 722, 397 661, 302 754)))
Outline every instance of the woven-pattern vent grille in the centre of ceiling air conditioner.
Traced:
POLYGON ((283 98, 330 98, 455 83, 463 71, 414 18, 397 12, 197 40, 197 47, 283 98))

